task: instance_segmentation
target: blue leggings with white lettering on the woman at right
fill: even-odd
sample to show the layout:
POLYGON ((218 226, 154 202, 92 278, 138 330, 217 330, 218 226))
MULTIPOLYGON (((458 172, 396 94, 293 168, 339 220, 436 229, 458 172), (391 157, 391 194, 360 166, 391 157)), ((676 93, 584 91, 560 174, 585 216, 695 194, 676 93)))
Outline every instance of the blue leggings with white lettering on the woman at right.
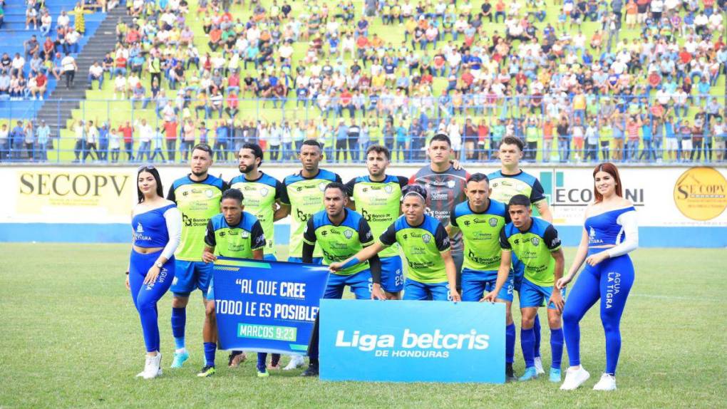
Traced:
MULTIPOLYGON (((588 256, 603 248, 588 250, 588 256)), ((621 315, 634 283, 634 266, 628 255, 603 260, 595 267, 586 265, 571 288, 563 309, 563 332, 571 366, 581 364, 579 321, 601 299, 601 323, 606 333, 606 373, 616 374, 621 352, 621 315)))

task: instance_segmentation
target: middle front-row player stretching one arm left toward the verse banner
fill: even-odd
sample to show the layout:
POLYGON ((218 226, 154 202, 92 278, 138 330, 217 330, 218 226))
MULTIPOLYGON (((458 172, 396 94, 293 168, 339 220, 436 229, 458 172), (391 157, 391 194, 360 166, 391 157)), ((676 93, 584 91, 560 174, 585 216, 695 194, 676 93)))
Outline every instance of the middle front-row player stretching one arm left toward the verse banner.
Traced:
POLYGON ((437 219, 425 214, 427 190, 409 185, 402 193, 403 216, 396 219, 376 243, 345 262, 331 264, 331 270, 365 262, 384 248, 398 243, 409 265, 403 299, 461 301, 447 232, 437 219))

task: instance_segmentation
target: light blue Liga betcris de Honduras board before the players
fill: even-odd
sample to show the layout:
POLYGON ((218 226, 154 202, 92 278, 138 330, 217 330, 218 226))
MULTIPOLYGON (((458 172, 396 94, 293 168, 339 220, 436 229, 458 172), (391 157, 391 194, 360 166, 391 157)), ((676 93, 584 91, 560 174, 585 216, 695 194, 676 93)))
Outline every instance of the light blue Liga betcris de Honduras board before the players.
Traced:
POLYGON ((321 379, 505 383, 505 304, 321 300, 321 379))

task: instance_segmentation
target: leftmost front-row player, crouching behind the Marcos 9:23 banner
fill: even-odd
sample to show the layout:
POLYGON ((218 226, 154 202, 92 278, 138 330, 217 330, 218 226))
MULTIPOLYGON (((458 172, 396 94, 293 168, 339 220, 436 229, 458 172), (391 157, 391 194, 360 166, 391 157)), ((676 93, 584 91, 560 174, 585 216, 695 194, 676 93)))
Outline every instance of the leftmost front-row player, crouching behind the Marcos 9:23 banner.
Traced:
MULTIPOLYGON (((222 193, 220 202, 222 213, 212 216, 207 223, 202 261, 212 265, 217 256, 262 260, 265 233, 257 217, 244 211, 243 203, 244 195, 240 190, 228 189, 222 193)), ((209 300, 207 309, 212 309, 209 315, 216 323, 212 280, 209 282, 207 299, 209 300)), ((257 354, 257 376, 268 376, 268 370, 265 368, 267 357, 268 354, 257 354)))

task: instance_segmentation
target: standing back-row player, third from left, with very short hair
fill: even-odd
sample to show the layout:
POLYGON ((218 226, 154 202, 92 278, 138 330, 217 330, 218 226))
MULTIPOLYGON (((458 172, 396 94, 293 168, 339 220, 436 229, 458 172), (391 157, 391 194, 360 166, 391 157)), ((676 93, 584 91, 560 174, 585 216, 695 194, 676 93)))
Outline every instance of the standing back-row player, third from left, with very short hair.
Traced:
MULTIPOLYGON (((300 147, 298 158, 303 169, 283 180, 285 189, 282 191, 281 203, 285 206, 285 216, 290 214, 290 247, 288 261, 303 261, 303 231, 313 214, 324 210, 324 189, 330 182, 341 182, 341 177, 332 171, 320 169, 318 164, 323 159, 321 144, 308 139, 300 147)), ((321 264, 323 254, 316 246, 313 251, 313 264, 321 264)))

